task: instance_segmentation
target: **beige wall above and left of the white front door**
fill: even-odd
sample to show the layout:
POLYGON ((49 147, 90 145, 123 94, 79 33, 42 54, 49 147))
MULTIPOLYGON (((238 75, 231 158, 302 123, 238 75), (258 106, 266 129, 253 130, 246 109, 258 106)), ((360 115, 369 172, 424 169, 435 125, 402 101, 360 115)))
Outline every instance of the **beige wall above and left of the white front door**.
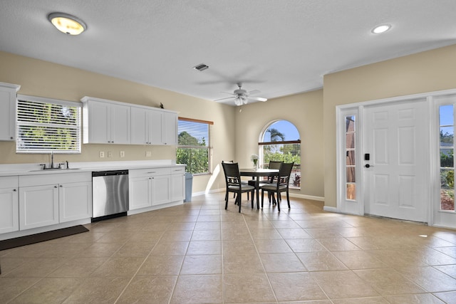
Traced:
POLYGON ((456 88, 456 46, 325 75, 325 206, 336 206, 336 105, 456 88))

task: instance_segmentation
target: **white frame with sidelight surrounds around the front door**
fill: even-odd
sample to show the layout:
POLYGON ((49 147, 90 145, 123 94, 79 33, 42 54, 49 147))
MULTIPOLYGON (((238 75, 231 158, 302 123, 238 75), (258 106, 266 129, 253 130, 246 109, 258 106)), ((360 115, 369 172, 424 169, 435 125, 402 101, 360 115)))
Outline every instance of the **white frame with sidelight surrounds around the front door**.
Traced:
POLYGON ((336 106, 336 210, 343 214, 356 214, 363 216, 365 214, 365 198, 366 189, 364 187, 364 170, 363 166, 365 161, 364 155, 364 142, 363 137, 366 132, 363 127, 363 119, 365 115, 364 109, 371 105, 388 105, 388 103, 400 103, 407 102, 409 100, 415 100, 419 98, 425 98, 427 100, 428 108, 428 119, 427 119, 427 130, 429 138, 428 155, 430 156, 430 162, 427 165, 427 184, 430 185, 430 189, 427 192, 427 201, 430 203, 426 207, 427 213, 427 225, 429 226, 442 226, 448 228, 456 228, 456 221, 454 226, 447 226, 451 223, 448 217, 456 217, 456 214, 446 215, 442 214, 440 210, 437 210, 437 201, 440 206, 440 154, 439 154, 439 137, 438 134, 438 105, 435 103, 434 98, 442 95, 454 95, 456 89, 451 90, 440 90, 427 93, 419 93, 413 95, 396 96, 393 98, 383 98, 378 100, 368 100, 360 103, 351 103, 346 105, 336 106), (347 202, 345 199, 345 178, 343 174, 346 174, 345 162, 346 159, 343 157, 345 142, 343 136, 345 136, 345 130, 343 128, 344 117, 349 115, 348 113, 356 113, 357 118, 357 135, 356 145, 359 147, 356 152, 356 201, 347 202), (435 221, 437 219, 437 221, 435 221), (440 220, 442 219, 442 220, 440 220))

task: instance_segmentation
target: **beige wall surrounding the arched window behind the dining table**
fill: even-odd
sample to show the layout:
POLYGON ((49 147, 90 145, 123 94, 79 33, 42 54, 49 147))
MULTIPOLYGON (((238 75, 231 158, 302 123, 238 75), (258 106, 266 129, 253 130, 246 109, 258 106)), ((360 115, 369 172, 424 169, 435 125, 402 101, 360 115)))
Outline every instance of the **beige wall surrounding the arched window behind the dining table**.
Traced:
POLYGON ((239 165, 252 167, 250 155, 258 154, 259 135, 267 125, 288 120, 301 136, 301 191, 294 192, 323 197, 322 100, 323 90, 315 90, 237 107, 235 159, 239 165))

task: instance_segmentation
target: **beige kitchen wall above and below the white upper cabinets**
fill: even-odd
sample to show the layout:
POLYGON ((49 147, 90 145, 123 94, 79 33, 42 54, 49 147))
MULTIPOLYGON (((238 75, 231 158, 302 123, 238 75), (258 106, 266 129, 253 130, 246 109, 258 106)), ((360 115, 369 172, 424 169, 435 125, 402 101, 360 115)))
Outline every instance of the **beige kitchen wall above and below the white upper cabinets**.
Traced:
MULTIPOLYGON (((214 122, 214 162, 234 158, 234 108, 209 100, 140 85, 64 65, 0 52, 0 82, 21 85, 19 94, 61 100, 80 101, 84 96, 117 100, 124 103, 157 107, 179 112, 182 117, 214 122), (204 110, 202 110, 204 109, 204 110)), ((202 88, 204 90, 204 88, 202 88)), ((150 159, 175 159, 175 147, 146 145, 82 145, 81 154, 56 155, 56 162, 98 162, 150 159), (125 157, 120 159, 120 151, 125 157), (99 152, 113 152, 113 157, 100 159, 99 152), (152 157, 145 157, 151 151, 152 157)), ((16 154, 15 142, 0 142, 0 164, 48 162, 48 154, 16 154)), ((193 192, 207 189, 210 176, 193 179, 193 192)), ((224 184, 222 177, 210 183, 211 189, 224 184)))

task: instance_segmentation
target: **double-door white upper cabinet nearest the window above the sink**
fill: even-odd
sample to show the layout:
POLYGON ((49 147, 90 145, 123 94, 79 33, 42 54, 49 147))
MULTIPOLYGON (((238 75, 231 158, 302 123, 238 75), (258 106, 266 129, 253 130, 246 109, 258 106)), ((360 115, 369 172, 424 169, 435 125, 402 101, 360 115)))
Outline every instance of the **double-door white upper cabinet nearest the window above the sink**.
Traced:
POLYGON ((81 101, 85 144, 130 144, 129 105, 91 97, 81 101))

